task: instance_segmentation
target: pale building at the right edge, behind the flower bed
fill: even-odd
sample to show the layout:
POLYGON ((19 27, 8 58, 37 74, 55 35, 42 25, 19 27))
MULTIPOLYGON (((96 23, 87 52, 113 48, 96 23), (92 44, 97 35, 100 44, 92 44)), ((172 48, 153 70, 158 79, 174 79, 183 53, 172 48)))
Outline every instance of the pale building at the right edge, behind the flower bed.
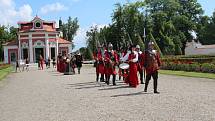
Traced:
POLYGON ((215 45, 202 45, 200 42, 188 42, 185 55, 215 55, 215 45))

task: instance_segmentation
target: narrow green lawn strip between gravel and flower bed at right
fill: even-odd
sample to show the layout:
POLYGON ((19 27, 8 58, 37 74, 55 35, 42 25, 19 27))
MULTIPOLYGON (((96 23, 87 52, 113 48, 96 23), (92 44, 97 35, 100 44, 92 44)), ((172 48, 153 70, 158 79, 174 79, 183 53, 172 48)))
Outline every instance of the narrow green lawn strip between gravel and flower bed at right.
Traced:
POLYGON ((176 75, 176 76, 215 79, 215 74, 211 74, 211 73, 171 71, 171 70, 159 70, 159 73, 160 74, 166 74, 166 75, 176 75))

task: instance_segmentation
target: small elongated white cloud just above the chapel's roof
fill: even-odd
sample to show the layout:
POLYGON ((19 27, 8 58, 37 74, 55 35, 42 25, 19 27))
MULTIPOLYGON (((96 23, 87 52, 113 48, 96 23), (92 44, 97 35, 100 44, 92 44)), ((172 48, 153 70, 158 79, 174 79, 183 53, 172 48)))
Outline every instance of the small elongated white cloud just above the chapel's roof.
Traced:
POLYGON ((43 7, 41 7, 40 13, 47 14, 50 12, 59 12, 59 11, 63 11, 66 9, 67 9, 67 7, 65 7, 63 4, 56 2, 56 3, 52 3, 52 4, 47 4, 43 7))

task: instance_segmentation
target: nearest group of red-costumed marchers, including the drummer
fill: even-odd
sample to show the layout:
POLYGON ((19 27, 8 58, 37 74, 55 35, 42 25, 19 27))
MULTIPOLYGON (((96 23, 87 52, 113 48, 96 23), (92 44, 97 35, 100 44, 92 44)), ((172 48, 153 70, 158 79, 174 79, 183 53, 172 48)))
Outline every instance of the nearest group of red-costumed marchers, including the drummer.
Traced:
POLYGON ((113 45, 108 47, 98 46, 97 51, 94 52, 95 67, 96 67, 96 81, 110 84, 110 77, 112 76, 112 84, 116 85, 116 75, 119 75, 119 80, 123 80, 130 87, 136 88, 141 84, 145 84, 144 91, 147 92, 147 87, 151 77, 154 80, 154 93, 157 91, 158 69, 161 65, 160 55, 154 49, 154 43, 149 42, 148 48, 142 52, 139 45, 130 45, 128 48, 122 48, 119 52, 113 50, 113 45), (116 67, 122 63, 129 64, 128 69, 116 67), (138 78, 140 75, 140 81, 138 78), (100 75, 100 77, 99 77, 100 75))

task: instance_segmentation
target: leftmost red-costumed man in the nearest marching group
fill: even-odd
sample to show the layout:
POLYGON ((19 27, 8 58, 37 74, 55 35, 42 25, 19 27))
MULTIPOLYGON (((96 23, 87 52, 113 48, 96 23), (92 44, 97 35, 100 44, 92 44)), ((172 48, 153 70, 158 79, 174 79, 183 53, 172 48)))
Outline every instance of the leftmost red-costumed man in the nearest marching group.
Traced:
POLYGON ((96 81, 98 82, 99 74, 101 74, 100 81, 104 82, 104 52, 100 45, 98 46, 98 50, 94 53, 94 60, 96 66, 96 81))

